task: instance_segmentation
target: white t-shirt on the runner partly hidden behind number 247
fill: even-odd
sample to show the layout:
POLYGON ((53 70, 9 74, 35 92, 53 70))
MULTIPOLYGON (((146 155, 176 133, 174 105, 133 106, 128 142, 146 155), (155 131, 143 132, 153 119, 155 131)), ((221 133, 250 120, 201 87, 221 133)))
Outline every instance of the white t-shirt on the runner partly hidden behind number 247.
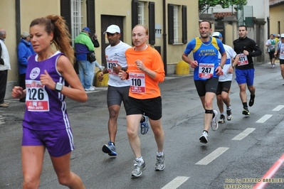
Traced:
MULTIPOLYGON (((223 70, 222 70, 223 75, 219 76, 219 82, 226 82, 226 81, 232 80, 233 73, 228 73, 228 68, 230 68, 230 66, 231 66, 232 58, 235 58, 236 55, 237 55, 235 50, 233 50, 233 48, 231 48, 229 45, 223 44, 223 47, 226 50, 227 60, 226 60, 225 65, 223 65, 223 70)), ((219 64, 220 64, 220 62, 221 62, 221 53, 220 52, 219 52, 218 58, 219 58, 219 64)))

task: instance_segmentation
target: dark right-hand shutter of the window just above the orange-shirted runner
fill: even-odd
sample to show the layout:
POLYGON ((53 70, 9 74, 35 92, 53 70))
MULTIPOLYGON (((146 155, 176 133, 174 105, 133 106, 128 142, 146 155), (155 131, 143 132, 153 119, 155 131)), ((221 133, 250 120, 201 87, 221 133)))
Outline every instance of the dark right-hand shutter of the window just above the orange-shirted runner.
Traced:
POLYGON ((149 1, 149 44, 155 43, 155 3, 149 1))

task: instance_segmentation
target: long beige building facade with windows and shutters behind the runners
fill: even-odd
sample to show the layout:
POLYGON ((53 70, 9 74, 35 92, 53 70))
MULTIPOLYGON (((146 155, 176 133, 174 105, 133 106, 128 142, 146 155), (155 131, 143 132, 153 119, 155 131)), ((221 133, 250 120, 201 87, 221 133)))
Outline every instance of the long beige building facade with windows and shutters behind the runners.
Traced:
MULTIPOLYGON (((6 46, 9 50, 9 70, 6 98, 18 82, 16 46, 22 31, 29 31, 34 18, 58 14, 65 18, 74 39, 88 26, 98 34, 100 48, 95 49, 99 63, 105 63, 107 26, 117 24, 122 31, 121 40, 132 45, 132 28, 136 24, 149 27, 149 45, 156 48, 164 60, 167 74, 175 72, 175 65, 182 60, 182 53, 191 38, 199 36, 198 1, 184 0, 1 0, 0 28, 6 29, 6 46)), ((98 69, 98 68, 96 68, 98 69)), ((96 71, 96 70, 94 70, 96 71)))

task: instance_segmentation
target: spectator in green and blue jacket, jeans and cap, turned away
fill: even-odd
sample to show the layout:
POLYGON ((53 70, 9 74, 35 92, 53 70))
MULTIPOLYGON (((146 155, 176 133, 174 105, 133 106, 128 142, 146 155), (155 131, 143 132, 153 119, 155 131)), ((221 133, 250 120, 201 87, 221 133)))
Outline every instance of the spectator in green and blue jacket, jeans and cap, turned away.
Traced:
POLYGON ((78 62, 79 78, 85 91, 93 91, 93 78, 95 72, 95 63, 90 63, 87 59, 88 53, 94 53, 95 48, 90 39, 90 29, 83 28, 80 34, 75 38, 75 56, 78 62))

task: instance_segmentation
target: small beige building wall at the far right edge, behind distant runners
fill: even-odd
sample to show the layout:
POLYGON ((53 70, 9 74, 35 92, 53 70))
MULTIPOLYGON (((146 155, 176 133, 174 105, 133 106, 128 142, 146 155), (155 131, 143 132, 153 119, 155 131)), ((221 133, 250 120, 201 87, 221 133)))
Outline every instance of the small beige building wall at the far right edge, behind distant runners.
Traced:
POLYGON ((270 7, 270 33, 284 33, 284 4, 270 7), (280 22, 280 31, 278 31, 278 22, 280 22))

